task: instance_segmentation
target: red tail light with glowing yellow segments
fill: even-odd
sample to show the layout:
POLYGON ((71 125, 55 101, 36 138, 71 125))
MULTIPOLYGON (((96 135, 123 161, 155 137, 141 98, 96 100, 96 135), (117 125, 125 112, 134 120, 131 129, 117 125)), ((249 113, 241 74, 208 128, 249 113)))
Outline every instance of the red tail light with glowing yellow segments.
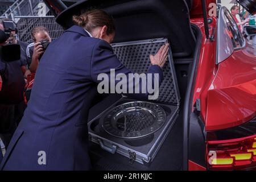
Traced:
POLYGON ((256 135, 207 142, 208 168, 233 170, 256 168, 256 135))

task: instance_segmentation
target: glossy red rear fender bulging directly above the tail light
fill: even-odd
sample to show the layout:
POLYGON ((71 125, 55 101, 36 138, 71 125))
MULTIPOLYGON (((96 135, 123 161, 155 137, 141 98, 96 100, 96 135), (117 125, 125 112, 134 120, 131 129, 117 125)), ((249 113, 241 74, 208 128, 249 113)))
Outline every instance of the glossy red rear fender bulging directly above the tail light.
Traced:
POLYGON ((255 117, 256 56, 247 44, 218 67, 208 90, 205 130, 241 125, 255 117))

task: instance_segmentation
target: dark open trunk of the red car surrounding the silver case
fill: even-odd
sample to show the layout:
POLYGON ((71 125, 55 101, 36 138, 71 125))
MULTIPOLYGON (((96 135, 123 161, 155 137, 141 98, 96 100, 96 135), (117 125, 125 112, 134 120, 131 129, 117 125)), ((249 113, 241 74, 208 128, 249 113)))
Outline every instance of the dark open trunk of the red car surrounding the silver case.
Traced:
MULTIPOLYGON (((98 144, 90 142, 90 154, 94 169, 103 170, 178 170, 183 168, 183 108, 191 75, 192 64, 195 63, 194 52, 198 52, 201 40, 197 40, 199 31, 189 22, 189 9, 192 1, 170 0, 112 0, 81 1, 69 7, 57 17, 57 23, 65 28, 72 26, 72 15, 79 15, 92 7, 104 9, 113 16, 116 26, 114 43, 141 41, 165 38, 170 42, 175 78, 180 93, 179 117, 150 166, 133 163, 119 154, 110 154, 98 144)), ((104 97, 90 110, 89 120, 108 109, 121 96, 104 97)), ((143 147, 143 145, 142 145, 143 147)))

